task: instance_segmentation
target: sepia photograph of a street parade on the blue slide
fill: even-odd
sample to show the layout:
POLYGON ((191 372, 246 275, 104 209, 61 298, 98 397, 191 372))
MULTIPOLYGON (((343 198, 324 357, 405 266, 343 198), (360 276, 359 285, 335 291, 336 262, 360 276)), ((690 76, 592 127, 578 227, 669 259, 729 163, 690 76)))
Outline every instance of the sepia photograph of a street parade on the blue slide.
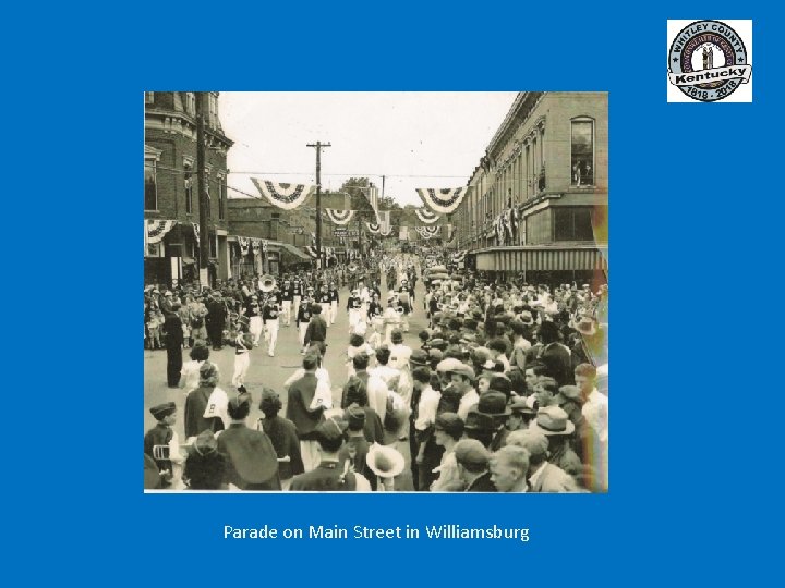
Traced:
POLYGON ((144 93, 144 491, 608 491, 608 94, 144 93))

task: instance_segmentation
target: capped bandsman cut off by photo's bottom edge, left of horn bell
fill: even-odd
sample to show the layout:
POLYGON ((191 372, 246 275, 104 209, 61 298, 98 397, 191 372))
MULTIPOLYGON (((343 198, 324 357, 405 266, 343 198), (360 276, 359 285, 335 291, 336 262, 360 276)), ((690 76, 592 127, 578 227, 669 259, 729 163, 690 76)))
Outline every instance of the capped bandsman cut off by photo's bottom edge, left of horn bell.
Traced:
POLYGON ((371 483, 357 471, 352 471, 349 461, 340 467, 340 450, 343 446, 343 434, 347 424, 343 420, 329 418, 321 422, 313 431, 317 448, 318 464, 305 474, 294 476, 291 490, 297 491, 358 491, 370 492, 371 483))

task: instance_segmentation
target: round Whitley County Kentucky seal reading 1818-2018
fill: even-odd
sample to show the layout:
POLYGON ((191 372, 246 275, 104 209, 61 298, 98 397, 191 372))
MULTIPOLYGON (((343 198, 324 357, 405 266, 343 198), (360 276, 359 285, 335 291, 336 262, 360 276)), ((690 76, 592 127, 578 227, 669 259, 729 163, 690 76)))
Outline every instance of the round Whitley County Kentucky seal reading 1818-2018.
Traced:
MULTIPOLYGON (((671 83, 695 100, 714 102, 730 96, 748 71, 741 37, 720 21, 684 27, 668 52, 671 83)), ((747 74, 749 75, 749 74, 747 74)))

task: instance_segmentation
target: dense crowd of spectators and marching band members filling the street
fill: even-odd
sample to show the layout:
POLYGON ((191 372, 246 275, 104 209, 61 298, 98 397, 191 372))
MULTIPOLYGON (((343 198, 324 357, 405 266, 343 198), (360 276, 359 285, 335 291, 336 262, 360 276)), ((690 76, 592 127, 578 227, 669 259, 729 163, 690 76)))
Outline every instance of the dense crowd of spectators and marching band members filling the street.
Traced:
MULTIPOLYGON (((607 491, 606 286, 497 283, 454 268, 431 280, 401 255, 358 269, 345 302, 328 272, 146 292, 146 319, 164 315, 168 384, 188 392, 182 442, 174 403, 150 408, 146 488, 392 491, 408 443, 416 491, 607 491), (324 363, 338 311, 349 328, 330 344, 348 343, 346 375, 324 363), (404 343, 412 313, 428 324, 413 347, 404 343), (280 391, 249 390, 250 351, 264 335, 275 353, 279 320, 303 326, 302 367, 280 391), (209 360, 225 344, 235 350, 228 392, 209 360), (264 417, 250 422, 255 402, 264 417)), ((157 342, 148 326, 145 340, 157 342)))

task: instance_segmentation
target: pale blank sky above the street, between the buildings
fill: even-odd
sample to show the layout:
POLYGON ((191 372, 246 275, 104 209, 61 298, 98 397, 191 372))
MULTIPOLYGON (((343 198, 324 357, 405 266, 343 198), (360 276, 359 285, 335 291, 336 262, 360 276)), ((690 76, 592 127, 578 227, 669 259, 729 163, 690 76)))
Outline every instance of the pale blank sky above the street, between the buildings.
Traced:
MULTIPOLYGON (((251 177, 316 183, 337 191, 369 177, 398 204, 421 206, 415 188, 464 186, 516 93, 235 93, 218 112, 229 149, 228 185, 257 196, 251 177)), ((381 192, 379 192, 381 195, 381 192)), ((229 197, 243 195, 230 189, 229 197)))

